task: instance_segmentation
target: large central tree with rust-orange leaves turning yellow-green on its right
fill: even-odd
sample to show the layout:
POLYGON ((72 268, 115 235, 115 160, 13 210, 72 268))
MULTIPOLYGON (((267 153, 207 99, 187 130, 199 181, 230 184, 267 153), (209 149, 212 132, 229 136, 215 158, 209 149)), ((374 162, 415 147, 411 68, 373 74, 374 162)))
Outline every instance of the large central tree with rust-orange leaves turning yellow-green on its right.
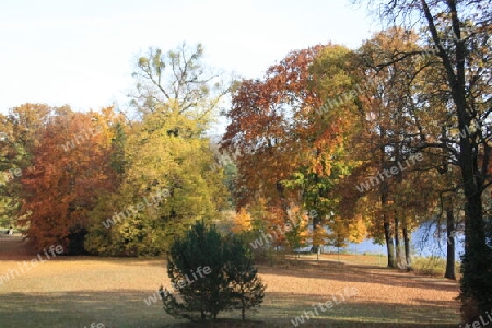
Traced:
MULTIPOLYGON (((223 149, 237 154, 239 207, 265 197, 273 212, 283 213, 280 220, 285 222, 290 203, 296 202, 319 214, 314 218, 315 227, 332 206, 330 186, 347 171, 333 159, 342 152, 343 131, 349 131, 345 125, 352 122, 345 110, 354 99, 350 96, 340 108, 325 114, 323 102, 329 95, 320 92, 329 89, 316 89, 316 74, 309 70, 321 54, 340 66, 350 56, 341 46, 315 46, 292 51, 271 66, 263 80, 243 81, 234 91, 227 113, 231 122, 222 140, 223 149)), ((324 82, 328 81, 325 75, 324 82)), ((337 83, 353 81, 340 74, 332 85, 337 83)))

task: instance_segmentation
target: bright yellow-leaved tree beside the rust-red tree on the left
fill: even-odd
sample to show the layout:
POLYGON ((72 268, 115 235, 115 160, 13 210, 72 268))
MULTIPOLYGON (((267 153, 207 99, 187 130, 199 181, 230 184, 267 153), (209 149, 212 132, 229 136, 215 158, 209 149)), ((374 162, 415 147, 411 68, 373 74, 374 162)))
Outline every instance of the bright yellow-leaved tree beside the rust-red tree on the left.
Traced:
POLYGON ((96 254, 162 254, 189 224, 211 219, 224 206, 225 187, 221 172, 210 166, 209 141, 168 133, 175 126, 190 133, 198 128, 180 115, 164 121, 162 115, 145 115, 127 137, 122 183, 93 211, 86 245, 96 254))

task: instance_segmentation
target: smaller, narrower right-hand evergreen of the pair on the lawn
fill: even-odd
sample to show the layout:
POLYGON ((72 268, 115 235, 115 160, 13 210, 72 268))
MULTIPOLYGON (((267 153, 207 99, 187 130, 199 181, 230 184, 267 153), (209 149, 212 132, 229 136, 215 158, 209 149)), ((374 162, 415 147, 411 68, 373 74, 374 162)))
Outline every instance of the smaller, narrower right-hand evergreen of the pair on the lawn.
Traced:
POLYGON ((242 319, 246 320, 246 311, 263 302, 267 286, 258 277, 258 269, 253 266, 250 248, 239 237, 229 239, 227 253, 225 271, 232 289, 232 307, 241 309, 242 319))

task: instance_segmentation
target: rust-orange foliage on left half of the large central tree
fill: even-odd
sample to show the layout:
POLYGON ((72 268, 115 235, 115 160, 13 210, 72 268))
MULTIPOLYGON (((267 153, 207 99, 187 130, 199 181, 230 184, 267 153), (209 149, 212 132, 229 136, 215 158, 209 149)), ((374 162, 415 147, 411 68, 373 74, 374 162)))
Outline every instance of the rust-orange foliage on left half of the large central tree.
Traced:
POLYGON ((263 80, 245 80, 233 94, 222 149, 239 154, 245 199, 258 194, 277 199, 278 184, 306 165, 309 145, 304 134, 309 127, 302 112, 316 99, 308 86, 308 66, 323 48, 290 52, 263 80))

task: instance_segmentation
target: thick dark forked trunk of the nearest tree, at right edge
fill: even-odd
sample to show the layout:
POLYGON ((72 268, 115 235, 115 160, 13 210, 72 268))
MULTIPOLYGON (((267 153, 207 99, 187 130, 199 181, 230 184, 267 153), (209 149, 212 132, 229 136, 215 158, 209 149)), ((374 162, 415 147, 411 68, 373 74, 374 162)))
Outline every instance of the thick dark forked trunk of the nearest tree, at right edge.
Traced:
MULTIPOLYGON (((436 19, 433 15, 427 1, 420 0, 420 4, 427 21, 429 31, 432 35, 434 45, 437 48, 437 56, 441 58, 446 70, 447 82, 449 85, 453 102, 455 103, 455 113, 458 119, 459 136, 459 168, 461 171, 461 181, 465 190, 465 255, 462 257, 462 278, 461 278, 461 311, 466 321, 473 321, 492 308, 492 296, 489 292, 492 290, 490 272, 492 272, 491 249, 485 243, 485 230, 482 212, 482 192, 484 176, 487 174, 488 157, 484 156, 482 167, 480 167, 478 152, 480 144, 477 138, 469 134, 471 121, 475 119, 470 115, 470 106, 467 104, 466 89, 466 63, 467 48, 466 43, 460 40, 461 22, 458 14, 458 1, 446 1, 448 7, 448 16, 453 33, 457 36, 454 40, 455 51, 449 52, 441 44, 436 19), (473 307, 473 313, 471 308, 473 307)), ((487 149, 487 144, 484 145, 487 149)))

